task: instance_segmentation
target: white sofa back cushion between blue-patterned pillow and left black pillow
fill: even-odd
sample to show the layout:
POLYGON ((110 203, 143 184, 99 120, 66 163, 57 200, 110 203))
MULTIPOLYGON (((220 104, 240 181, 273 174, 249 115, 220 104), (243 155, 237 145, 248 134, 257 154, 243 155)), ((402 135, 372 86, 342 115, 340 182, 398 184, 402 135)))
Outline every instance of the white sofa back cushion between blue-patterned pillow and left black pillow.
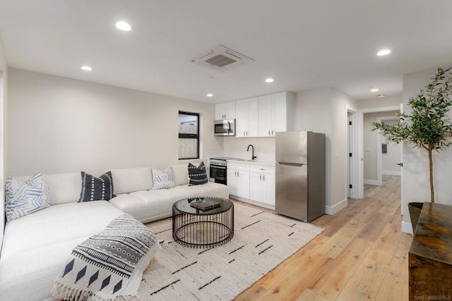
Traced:
MULTIPOLYGON (((24 182, 28 176, 14 177, 24 182)), ((80 199, 82 178, 80 173, 55 173, 44 175, 44 180, 49 186, 50 204, 64 204, 77 202, 80 199)))

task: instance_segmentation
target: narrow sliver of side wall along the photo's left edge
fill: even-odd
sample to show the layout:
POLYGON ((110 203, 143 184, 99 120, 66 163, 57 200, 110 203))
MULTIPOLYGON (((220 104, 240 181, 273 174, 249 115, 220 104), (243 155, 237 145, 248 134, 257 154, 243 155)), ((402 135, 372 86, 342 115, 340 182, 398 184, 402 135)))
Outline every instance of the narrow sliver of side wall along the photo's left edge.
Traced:
POLYGON ((4 179, 5 179, 5 123, 6 123, 6 104, 7 104, 7 79, 8 67, 3 47, 3 41, 0 36, 0 250, 3 242, 3 233, 5 226, 5 195, 4 195, 4 179))

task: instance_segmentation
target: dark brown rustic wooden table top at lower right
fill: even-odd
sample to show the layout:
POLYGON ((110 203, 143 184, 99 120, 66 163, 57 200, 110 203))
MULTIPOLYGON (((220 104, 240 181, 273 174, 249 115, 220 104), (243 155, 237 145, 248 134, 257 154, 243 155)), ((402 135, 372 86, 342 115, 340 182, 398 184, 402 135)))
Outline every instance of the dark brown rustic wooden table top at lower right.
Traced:
POLYGON ((410 253, 452 264, 452 206, 424 202, 410 253))

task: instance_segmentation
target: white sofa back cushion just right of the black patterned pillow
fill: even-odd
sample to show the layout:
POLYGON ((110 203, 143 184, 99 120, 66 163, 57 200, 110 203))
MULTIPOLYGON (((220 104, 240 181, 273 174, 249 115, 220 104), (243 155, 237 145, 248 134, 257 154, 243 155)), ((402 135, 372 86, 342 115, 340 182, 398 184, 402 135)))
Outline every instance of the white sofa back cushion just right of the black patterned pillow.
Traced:
POLYGON ((149 167, 112 169, 111 172, 115 195, 153 188, 153 176, 149 167))

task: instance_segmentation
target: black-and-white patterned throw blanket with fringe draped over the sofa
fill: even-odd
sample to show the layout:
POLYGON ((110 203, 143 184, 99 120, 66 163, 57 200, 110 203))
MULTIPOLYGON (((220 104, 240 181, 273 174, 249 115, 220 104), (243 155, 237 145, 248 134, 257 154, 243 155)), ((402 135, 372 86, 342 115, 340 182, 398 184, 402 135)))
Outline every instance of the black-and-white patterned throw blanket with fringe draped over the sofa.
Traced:
POLYGON ((129 300, 160 244, 130 214, 76 246, 55 279, 54 300, 129 300))

